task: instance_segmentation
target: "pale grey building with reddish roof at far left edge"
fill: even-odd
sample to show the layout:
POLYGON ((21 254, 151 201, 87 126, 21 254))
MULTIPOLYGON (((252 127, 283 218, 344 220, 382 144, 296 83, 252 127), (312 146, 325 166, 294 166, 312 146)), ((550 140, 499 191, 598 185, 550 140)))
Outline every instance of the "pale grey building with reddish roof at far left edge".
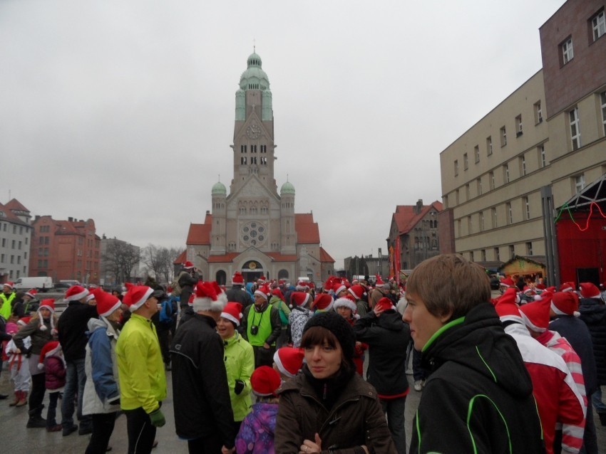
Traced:
POLYGON ((29 210, 16 199, 0 204, 0 283, 29 276, 29 210))

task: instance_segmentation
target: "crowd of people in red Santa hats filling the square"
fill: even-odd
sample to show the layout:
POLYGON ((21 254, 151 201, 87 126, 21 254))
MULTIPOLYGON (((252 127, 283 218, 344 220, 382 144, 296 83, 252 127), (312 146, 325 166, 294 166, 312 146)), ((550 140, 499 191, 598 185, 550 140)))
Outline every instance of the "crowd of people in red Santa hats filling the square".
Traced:
POLYGON ((90 434, 87 454, 111 449, 124 413, 128 453, 150 453, 170 373, 190 453, 597 453, 600 289, 501 287, 492 299, 485 270, 454 254, 406 282, 318 287, 236 272, 225 288, 186 262, 167 287, 73 285, 57 317, 53 299, 5 283, 9 405, 29 406, 28 429, 90 434), (407 446, 411 372, 422 394, 407 446))

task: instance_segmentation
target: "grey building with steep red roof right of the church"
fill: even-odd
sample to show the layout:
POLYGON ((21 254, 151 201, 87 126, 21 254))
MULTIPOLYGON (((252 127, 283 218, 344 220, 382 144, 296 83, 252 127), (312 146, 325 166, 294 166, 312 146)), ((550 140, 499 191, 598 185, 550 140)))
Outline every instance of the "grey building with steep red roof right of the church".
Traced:
POLYGON ((391 216, 387 248, 399 270, 411 270, 419 263, 440 254, 438 214, 442 204, 398 205, 391 216))

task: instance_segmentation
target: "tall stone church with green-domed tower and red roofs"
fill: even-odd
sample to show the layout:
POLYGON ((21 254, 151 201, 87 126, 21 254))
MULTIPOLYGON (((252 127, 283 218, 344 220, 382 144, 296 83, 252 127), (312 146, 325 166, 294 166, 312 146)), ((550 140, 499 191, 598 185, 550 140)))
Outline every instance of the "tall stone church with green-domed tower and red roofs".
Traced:
POLYGON ((252 53, 235 94, 230 191, 212 186, 212 212, 190 225, 182 262, 189 260, 205 280, 230 283, 235 271, 250 282, 267 279, 322 281, 334 259, 320 246, 312 213, 295 213, 294 186, 274 179, 274 112, 261 57, 252 53))

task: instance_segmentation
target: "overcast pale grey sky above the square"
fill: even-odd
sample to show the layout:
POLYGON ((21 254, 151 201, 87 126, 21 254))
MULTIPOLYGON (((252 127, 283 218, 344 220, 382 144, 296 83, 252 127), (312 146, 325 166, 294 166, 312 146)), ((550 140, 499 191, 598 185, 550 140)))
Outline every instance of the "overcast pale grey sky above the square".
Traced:
POLYGON ((0 0, 0 202, 185 248, 232 179, 256 43, 278 189, 337 260, 441 201, 439 154, 541 68, 563 0, 0 0))

